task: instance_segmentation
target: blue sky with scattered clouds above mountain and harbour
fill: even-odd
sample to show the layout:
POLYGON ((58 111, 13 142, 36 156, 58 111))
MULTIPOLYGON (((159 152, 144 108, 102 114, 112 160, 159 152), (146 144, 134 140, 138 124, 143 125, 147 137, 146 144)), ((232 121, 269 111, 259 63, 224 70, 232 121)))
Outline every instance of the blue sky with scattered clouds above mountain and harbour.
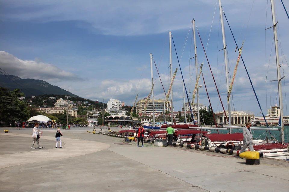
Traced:
MULTIPOLYGON (((289 9, 289 2, 283 2, 289 9)), ((279 105, 270 1, 223 0, 222 8, 238 46, 244 41, 242 57, 266 115, 270 105, 279 105)), ((284 76, 284 115, 289 115, 286 93, 289 90, 289 48, 286 46, 289 19, 281 1, 275 2, 275 8, 280 70, 284 76)), ((172 44, 172 71, 178 67, 173 84, 174 111, 181 111, 184 102, 182 75, 190 98, 196 84, 192 58, 191 20, 194 18, 200 34, 199 37, 196 32, 198 70, 204 62, 205 82, 202 76, 199 82, 203 85, 199 89, 200 103, 210 105, 206 83, 213 111, 222 111, 217 89, 228 110, 217 0, 0 0, 0 18, 0 70, 3 73, 41 79, 91 100, 118 99, 128 106, 133 105, 137 93, 141 99, 151 91, 150 53, 157 66, 153 63, 154 98, 165 97, 163 87, 167 92, 170 84, 168 32, 171 31, 176 47, 172 44)), ((235 52, 236 45, 225 17, 224 22, 230 82, 238 51, 235 52)), ((242 61, 230 102, 231 110, 246 110, 261 116, 242 61)))

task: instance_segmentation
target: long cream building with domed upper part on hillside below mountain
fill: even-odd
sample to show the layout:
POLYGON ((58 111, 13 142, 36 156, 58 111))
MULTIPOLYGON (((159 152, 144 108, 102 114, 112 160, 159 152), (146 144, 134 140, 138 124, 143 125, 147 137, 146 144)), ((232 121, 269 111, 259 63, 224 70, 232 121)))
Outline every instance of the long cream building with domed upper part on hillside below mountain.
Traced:
POLYGON ((45 112, 47 114, 64 113, 64 111, 68 111, 69 115, 77 117, 76 103, 68 100, 67 106, 67 100, 64 100, 62 98, 57 99, 57 102, 56 104, 54 104, 54 107, 36 107, 36 111, 45 112))

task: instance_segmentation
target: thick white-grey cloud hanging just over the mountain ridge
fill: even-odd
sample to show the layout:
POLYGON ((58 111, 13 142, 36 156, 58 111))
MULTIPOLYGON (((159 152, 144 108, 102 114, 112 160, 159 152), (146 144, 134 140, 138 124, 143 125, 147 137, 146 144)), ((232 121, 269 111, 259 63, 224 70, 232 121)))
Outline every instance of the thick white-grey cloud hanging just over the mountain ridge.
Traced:
POLYGON ((52 64, 35 61, 23 61, 5 51, 0 51, 1 69, 10 75, 17 75, 22 79, 41 79, 49 82, 79 81, 82 80, 75 74, 64 71, 52 64))

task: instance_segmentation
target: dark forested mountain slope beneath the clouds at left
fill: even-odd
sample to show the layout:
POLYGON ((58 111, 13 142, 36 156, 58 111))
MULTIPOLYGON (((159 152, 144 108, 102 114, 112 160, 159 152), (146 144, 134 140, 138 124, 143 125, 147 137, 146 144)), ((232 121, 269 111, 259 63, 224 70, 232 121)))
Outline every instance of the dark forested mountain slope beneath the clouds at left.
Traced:
MULTIPOLYGON (((11 91, 19 88, 25 94, 26 97, 45 94, 67 95, 66 90, 51 85, 46 81, 42 81, 39 79, 21 79, 20 77, 14 75, 7 75, 7 76, 0 75, 0 86, 8 88, 11 91)), ((79 97, 70 92, 69 96, 79 97)))

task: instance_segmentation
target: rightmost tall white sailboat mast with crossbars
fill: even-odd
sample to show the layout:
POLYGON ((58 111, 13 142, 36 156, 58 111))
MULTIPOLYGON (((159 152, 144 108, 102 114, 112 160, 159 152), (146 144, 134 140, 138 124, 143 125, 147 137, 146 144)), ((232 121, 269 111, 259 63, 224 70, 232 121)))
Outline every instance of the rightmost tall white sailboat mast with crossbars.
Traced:
POLYGON ((276 53, 276 65, 277 65, 277 79, 278 79, 278 95, 279 95, 279 106, 280 106, 280 120, 281 120, 281 143, 284 144, 284 125, 283 125, 283 99, 282 99, 282 87, 281 87, 281 73, 280 73, 280 63, 279 63, 279 52, 278 52, 278 38, 277 38, 277 23, 275 19, 275 1, 271 0, 271 10, 272 10, 272 21, 273 21, 273 31, 275 40, 275 53, 276 53))

